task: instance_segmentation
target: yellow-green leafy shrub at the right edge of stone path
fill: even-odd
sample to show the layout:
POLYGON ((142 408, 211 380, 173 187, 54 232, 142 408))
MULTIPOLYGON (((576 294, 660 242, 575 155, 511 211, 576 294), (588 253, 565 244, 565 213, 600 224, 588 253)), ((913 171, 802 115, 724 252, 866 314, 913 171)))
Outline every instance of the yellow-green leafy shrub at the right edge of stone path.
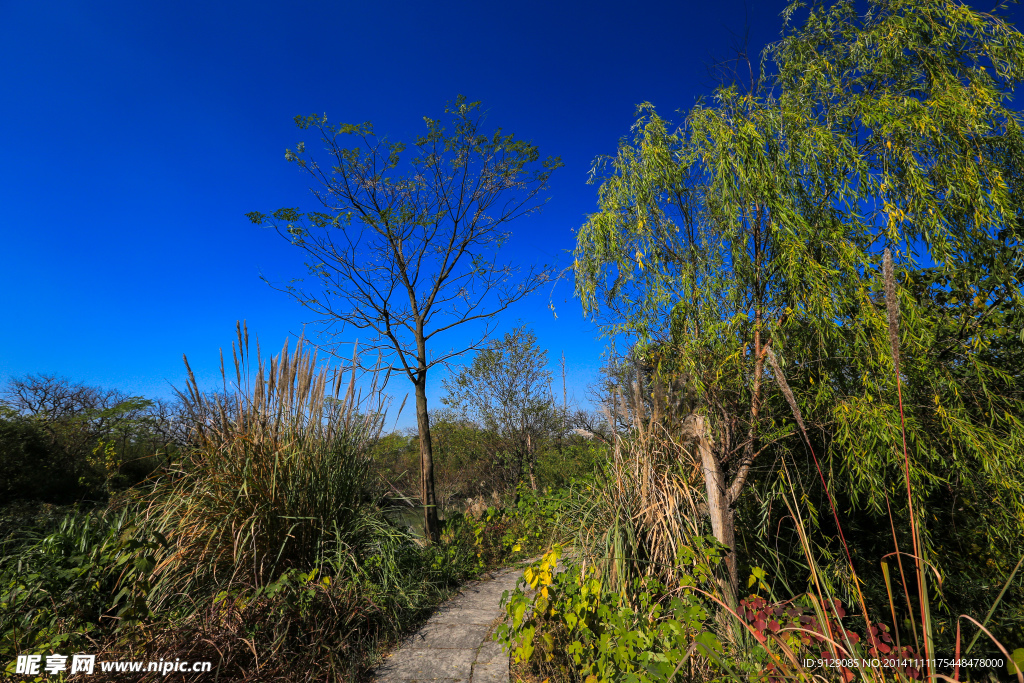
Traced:
POLYGON ((720 666, 714 604, 699 588, 721 559, 714 540, 681 549, 680 564, 693 574, 671 592, 653 577, 609 590, 594 565, 557 571, 558 557, 555 549, 526 569, 504 603, 508 620, 497 638, 513 663, 554 680, 634 683, 671 681, 688 664, 720 666))

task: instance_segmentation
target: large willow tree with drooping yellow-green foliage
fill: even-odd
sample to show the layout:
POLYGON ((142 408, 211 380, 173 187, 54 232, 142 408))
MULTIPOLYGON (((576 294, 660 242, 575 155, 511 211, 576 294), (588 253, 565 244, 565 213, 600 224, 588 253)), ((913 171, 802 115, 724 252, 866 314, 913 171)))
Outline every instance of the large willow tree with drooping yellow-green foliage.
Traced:
POLYGON ((1024 137, 1008 108, 1024 39, 943 0, 877 0, 863 15, 794 3, 783 16, 759 80, 720 87, 678 128, 643 105, 599 161, 578 293, 697 392, 691 434, 726 545, 755 462, 795 439, 860 509, 994 498, 978 512, 1019 540, 1019 375, 987 349, 1012 346, 1024 319, 1024 137))

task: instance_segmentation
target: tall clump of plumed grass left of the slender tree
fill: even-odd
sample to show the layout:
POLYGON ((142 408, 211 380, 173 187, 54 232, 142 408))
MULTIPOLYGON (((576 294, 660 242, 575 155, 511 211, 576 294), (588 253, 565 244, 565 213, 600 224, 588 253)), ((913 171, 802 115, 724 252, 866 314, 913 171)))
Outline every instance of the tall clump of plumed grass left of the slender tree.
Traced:
POLYGON ((357 572, 372 546, 401 541, 373 505, 379 373, 364 399, 354 354, 347 384, 302 340, 264 362, 241 324, 232 355, 232 391, 221 356, 223 393, 201 391, 190 368, 179 392, 195 447, 150 497, 151 523, 175 548, 156 570, 158 606, 214 587, 260 588, 289 568, 357 572))

